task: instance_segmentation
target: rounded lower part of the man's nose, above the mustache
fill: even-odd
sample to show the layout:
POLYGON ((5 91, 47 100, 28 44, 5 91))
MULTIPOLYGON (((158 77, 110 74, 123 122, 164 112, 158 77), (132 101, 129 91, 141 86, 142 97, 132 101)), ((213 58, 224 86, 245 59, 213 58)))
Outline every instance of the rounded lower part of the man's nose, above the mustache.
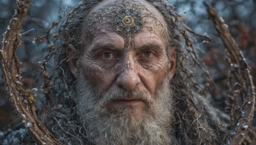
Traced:
POLYGON ((140 84, 140 81, 138 71, 132 66, 126 66, 124 71, 118 74, 116 84, 126 90, 132 90, 136 85, 140 84))

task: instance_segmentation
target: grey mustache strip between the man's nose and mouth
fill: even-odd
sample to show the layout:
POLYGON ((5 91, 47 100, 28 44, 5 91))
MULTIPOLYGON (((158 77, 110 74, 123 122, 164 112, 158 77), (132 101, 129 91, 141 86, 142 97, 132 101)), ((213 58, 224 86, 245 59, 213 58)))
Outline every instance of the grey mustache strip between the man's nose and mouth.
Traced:
POLYGON ((106 104, 113 100, 142 100, 144 102, 152 102, 152 95, 148 92, 142 92, 137 90, 124 90, 118 88, 110 92, 102 94, 102 103, 106 104))

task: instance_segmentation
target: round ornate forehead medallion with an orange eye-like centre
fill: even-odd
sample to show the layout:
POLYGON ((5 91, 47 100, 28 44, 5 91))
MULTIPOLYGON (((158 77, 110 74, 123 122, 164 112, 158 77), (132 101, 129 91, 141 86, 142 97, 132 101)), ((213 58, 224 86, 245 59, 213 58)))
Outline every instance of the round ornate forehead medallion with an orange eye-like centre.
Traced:
POLYGON ((113 18, 113 29, 123 36, 133 36, 141 31, 143 18, 140 11, 122 9, 113 18))

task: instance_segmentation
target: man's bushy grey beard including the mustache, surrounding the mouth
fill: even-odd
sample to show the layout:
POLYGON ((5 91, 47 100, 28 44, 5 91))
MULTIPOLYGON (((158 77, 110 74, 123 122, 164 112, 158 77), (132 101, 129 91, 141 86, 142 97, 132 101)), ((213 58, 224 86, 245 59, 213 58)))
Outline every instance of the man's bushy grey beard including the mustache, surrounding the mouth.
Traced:
POLYGON ((172 92, 167 79, 155 95, 134 90, 104 93, 101 97, 85 79, 79 79, 77 111, 93 144, 171 144, 173 105, 172 92), (122 107, 109 111, 106 104, 122 96, 136 96, 147 102, 147 109, 138 112, 136 107, 122 107))

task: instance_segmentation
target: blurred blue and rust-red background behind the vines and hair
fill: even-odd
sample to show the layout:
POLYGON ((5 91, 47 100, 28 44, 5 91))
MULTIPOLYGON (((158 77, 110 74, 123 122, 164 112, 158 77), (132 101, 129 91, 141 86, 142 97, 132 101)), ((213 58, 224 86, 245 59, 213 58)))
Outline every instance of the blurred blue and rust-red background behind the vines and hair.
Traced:
MULTIPOLYGON (((209 35, 212 42, 196 38, 198 46, 198 57, 202 59, 216 84, 209 88, 212 97, 220 105, 225 107, 225 85, 227 78, 226 56, 220 38, 216 36, 216 31, 211 20, 208 19, 206 8, 202 0, 169 0, 174 10, 182 17, 182 21, 193 31, 209 35)), ((219 15, 228 24, 232 35, 241 48, 247 62, 252 66, 251 74, 256 83, 256 1, 255 0, 209 0, 206 1, 216 8, 219 15)), ((24 43, 18 48, 17 53, 22 62, 22 83, 27 88, 38 85, 35 78, 40 75, 38 62, 44 59, 48 52, 48 44, 51 41, 43 39, 41 42, 35 41, 36 36, 43 36, 52 22, 58 22, 58 14, 67 15, 68 11, 78 0, 34 0, 29 6, 29 12, 22 25, 22 41, 24 43)), ((15 0, 0 0, 0 34, 3 34, 9 20, 12 18, 16 7, 15 0)), ((54 32, 50 32, 53 34, 54 32)), ((3 39, 3 36, 0 36, 3 39)), ((194 38, 193 38, 194 39, 194 38)), ((0 75, 1 71, 0 71, 0 75)), ((19 123, 19 118, 15 114, 12 103, 4 88, 3 78, 0 78, 0 133, 9 127, 19 123)))

